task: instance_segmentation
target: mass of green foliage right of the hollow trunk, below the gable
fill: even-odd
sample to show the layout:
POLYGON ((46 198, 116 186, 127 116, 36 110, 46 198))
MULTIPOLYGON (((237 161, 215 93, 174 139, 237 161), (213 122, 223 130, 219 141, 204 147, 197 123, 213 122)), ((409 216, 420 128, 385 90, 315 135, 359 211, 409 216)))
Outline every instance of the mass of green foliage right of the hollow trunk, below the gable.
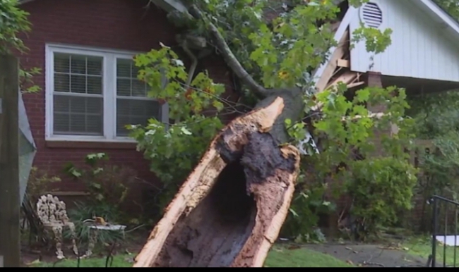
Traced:
MULTIPOLYGON (((308 211, 306 205, 328 204, 345 193, 354 199, 352 216, 364 222, 361 235, 374 234, 379 225, 393 223, 400 209, 410 209, 416 169, 407 163, 406 151, 414 135, 413 120, 405 118, 405 109, 409 108, 405 90, 367 87, 355 92, 352 99, 346 98, 347 93, 345 85, 338 85, 316 95, 323 103, 320 118, 314 120, 314 137, 320 141, 321 152, 311 153, 306 171, 314 175, 306 178, 309 186, 297 190, 297 194, 309 196, 311 188, 328 187, 328 197, 294 200, 290 218, 299 217, 297 214, 305 218, 302 227, 296 228, 300 235, 307 235, 318 219, 311 216, 312 209, 308 211), (375 118, 365 105, 386 110, 375 118), (386 133, 375 135, 375 131, 386 133), (375 192, 374 197, 362 197, 365 192, 375 192)), ((298 131, 292 128, 290 134, 297 137, 298 131)))

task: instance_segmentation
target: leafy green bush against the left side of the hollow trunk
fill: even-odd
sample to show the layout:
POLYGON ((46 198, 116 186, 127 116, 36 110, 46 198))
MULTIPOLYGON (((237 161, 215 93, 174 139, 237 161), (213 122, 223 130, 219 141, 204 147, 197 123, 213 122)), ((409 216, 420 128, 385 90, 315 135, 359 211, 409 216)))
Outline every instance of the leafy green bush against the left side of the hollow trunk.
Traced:
POLYGON ((217 117, 204 116, 188 117, 183 123, 169 128, 154 119, 146 127, 131 128, 131 137, 136 139, 138 149, 150 161, 150 170, 162 182, 157 202, 161 213, 220 128, 222 123, 217 117))

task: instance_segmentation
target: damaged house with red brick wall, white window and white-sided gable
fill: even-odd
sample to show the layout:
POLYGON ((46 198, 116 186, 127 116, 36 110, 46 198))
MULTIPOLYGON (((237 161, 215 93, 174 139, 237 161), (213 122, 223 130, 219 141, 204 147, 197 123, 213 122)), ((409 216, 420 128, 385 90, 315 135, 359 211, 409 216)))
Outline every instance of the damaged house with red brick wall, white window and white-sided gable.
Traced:
MULTIPOLYGON (((35 166, 59 173, 67 161, 81 162, 90 152, 105 152, 114 163, 155 180, 135 143, 126 138, 121 120, 138 122, 151 115, 165 120, 167 108, 138 94, 145 89, 135 81, 130 59, 159 42, 177 44, 177 30, 166 12, 185 11, 183 4, 179 0, 152 0, 155 5, 149 6, 148 0, 21 2, 33 27, 24 38, 30 53, 20 60, 23 66, 44 72, 35 78, 43 92, 24 96, 38 148, 35 166), (145 110, 139 114, 134 109, 145 110)), ((459 23, 434 1, 371 0, 359 8, 340 1, 340 7, 342 16, 335 23, 340 46, 330 49, 330 57, 314 73, 318 92, 338 82, 349 89, 397 85, 410 94, 459 87, 455 47, 459 23), (366 51, 364 42, 351 48, 352 32, 361 23, 391 28, 391 46, 376 56, 366 51)), ((215 81, 232 88, 232 75, 220 58, 208 57, 202 64, 215 81)), ((62 183, 61 190, 81 187, 62 183)))

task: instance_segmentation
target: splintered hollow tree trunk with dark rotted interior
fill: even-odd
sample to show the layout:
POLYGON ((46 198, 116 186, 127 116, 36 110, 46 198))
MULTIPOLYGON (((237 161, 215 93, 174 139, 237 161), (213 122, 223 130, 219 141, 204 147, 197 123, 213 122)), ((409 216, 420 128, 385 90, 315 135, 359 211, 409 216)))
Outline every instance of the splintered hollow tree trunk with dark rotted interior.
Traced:
POLYGON ((273 135, 284 100, 258 106, 214 138, 134 267, 263 266, 299 171, 297 149, 273 135))

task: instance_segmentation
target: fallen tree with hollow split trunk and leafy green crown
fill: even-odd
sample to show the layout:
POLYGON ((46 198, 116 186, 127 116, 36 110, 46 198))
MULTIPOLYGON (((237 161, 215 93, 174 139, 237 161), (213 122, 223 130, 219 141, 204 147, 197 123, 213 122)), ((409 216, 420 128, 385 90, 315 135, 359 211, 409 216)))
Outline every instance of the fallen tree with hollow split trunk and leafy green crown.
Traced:
MULTIPOLYGON (((157 4, 160 0, 153 2, 157 4)), ((219 1, 209 6, 204 1, 188 2, 194 4, 182 6, 180 18, 176 21, 195 27, 201 24, 201 28, 196 28, 204 29, 201 35, 205 37, 189 39, 191 34, 187 33, 179 39, 179 44, 192 61, 188 75, 184 72, 183 62, 177 61, 177 54, 169 47, 152 51, 137 62, 143 68, 140 78, 153 87, 152 96, 175 104, 169 113, 174 120, 174 128, 177 128, 174 133, 181 130, 186 135, 193 135, 187 130, 184 119, 193 113, 199 116, 198 120, 203 120, 205 117, 200 111, 203 105, 221 110, 215 97, 222 94, 222 89, 217 92, 216 85, 203 73, 192 80, 198 59, 207 54, 206 42, 217 49, 239 83, 258 99, 258 103, 253 111, 234 119, 213 138, 201 161, 181 185, 136 256, 134 267, 260 267, 285 221, 299 173, 299 152, 288 144, 292 142, 292 137, 287 132, 286 123, 302 123, 305 94, 311 91, 310 79, 305 77, 309 75, 306 68, 321 63, 318 58, 327 55, 328 42, 333 39, 326 27, 314 26, 318 29, 315 32, 304 28, 304 25, 335 18, 336 4, 309 6, 302 2, 293 9, 290 17, 282 17, 284 22, 274 22, 278 25, 276 28, 268 27, 270 23, 258 16, 266 8, 263 6, 266 2, 254 1, 249 8, 253 13, 247 13, 250 18, 244 19, 246 21, 242 24, 248 27, 245 32, 252 27, 251 33, 256 33, 249 37, 247 33, 228 27, 224 20, 214 20, 220 16, 231 18, 232 26, 242 23, 239 15, 246 11, 242 6, 237 5, 231 10, 219 1), (305 16, 305 12, 311 18, 305 16), (270 36, 276 32, 278 35, 270 36), (295 38, 278 39, 282 35, 292 36, 292 32, 295 38), (237 34, 237 39, 231 40, 222 33, 237 34), (305 39, 328 42, 319 44, 323 48, 316 49, 307 42, 299 42, 305 39), (238 52, 238 47, 247 48, 238 52), (250 58, 246 57, 248 52, 252 53, 250 58), (291 52, 302 52, 304 56, 291 52), (244 64, 252 69, 246 70, 244 64), (162 80, 158 70, 162 70, 169 81, 162 80), (177 92, 184 92, 184 95, 177 92)), ((283 5, 282 10, 285 14, 290 12, 283 5)), ((348 35, 343 32, 340 41, 347 41, 348 35)), ((335 58, 342 57, 335 55, 335 58)), ((358 76, 353 73, 345 73, 345 80, 338 78, 336 82, 332 77, 333 73, 327 73, 326 78, 321 80, 323 87, 318 89, 319 92, 327 87, 330 80, 332 85, 336 82, 344 82, 345 85, 359 83, 358 76)), ((313 110, 320 110, 321 106, 317 104, 313 110)), ((196 123, 195 119, 189 120, 196 123)), ((150 128, 145 129, 148 132, 140 129, 134 137, 145 145, 155 142, 157 146, 160 144, 156 139, 172 137, 172 132, 167 134, 159 121, 151 122, 150 128), (158 137, 160 133, 165 137, 158 137), (148 138, 152 135, 157 138, 148 138), (145 137, 150 140, 145 140, 145 137)), ((167 141, 164 143, 169 144, 167 141)), ((157 150, 154 147, 150 151, 150 158, 155 158, 159 165, 162 161, 157 156, 157 150)), ((169 159, 170 154, 165 157, 169 159)), ((155 167, 161 171, 157 165, 155 167)))

